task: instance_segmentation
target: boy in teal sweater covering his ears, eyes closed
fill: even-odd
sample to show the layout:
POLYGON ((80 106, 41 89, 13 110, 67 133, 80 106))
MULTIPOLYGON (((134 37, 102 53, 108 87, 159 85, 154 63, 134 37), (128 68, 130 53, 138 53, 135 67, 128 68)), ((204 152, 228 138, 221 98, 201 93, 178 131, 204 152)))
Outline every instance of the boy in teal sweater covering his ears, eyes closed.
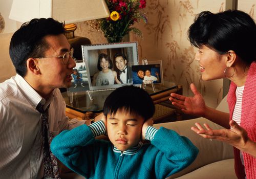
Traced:
POLYGON ((106 98, 101 121, 61 132, 51 150, 86 178, 165 178, 191 164, 198 149, 173 130, 154 128, 154 112, 143 89, 122 86, 106 98), (95 139, 105 133, 110 141, 95 139))

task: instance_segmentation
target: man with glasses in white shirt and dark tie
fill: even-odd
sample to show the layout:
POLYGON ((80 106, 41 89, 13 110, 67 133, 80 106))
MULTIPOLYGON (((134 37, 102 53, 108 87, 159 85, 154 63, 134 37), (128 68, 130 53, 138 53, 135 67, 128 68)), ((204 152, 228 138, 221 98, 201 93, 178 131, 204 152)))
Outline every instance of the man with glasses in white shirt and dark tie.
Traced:
POLYGON ((0 84, 0 178, 59 178, 47 147, 60 131, 84 124, 65 115, 58 89, 71 86, 76 65, 64 32, 62 23, 40 18, 12 36, 17 75, 0 84))

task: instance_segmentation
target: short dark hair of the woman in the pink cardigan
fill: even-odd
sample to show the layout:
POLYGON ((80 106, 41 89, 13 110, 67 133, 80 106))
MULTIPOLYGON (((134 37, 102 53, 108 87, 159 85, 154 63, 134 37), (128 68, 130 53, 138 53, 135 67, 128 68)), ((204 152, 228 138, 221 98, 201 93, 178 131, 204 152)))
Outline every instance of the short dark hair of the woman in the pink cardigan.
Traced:
POLYGON ((246 65, 256 58, 256 26, 242 11, 201 12, 189 27, 188 38, 193 46, 205 45, 219 54, 233 50, 246 65))

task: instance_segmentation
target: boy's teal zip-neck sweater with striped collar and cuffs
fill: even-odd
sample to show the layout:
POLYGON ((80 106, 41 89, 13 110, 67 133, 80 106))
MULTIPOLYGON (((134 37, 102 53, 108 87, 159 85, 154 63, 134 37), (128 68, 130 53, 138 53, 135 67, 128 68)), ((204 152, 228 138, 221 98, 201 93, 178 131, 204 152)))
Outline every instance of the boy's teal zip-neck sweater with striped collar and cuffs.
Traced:
POLYGON ((162 179, 196 159, 198 149, 186 137, 163 127, 155 131, 151 144, 140 143, 122 152, 110 141, 96 140, 91 127, 81 125, 62 131, 53 139, 51 150, 64 165, 86 178, 162 179))

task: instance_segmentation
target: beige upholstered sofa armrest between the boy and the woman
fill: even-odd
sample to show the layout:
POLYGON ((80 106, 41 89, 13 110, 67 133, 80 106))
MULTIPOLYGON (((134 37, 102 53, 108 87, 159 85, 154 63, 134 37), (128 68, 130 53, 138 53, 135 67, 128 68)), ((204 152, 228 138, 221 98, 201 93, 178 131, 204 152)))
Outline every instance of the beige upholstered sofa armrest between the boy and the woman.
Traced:
POLYGON ((208 123, 212 129, 222 128, 218 124, 213 123, 205 118, 154 124, 154 126, 157 128, 163 126, 165 128, 175 130, 181 136, 185 136, 191 140, 191 142, 193 142, 193 144, 199 149, 197 159, 191 165, 168 178, 176 178, 188 172, 194 171, 202 166, 233 158, 233 147, 231 145, 217 140, 209 141, 208 139, 202 138, 193 130, 191 130, 190 128, 194 126, 196 122, 200 124, 208 123))

